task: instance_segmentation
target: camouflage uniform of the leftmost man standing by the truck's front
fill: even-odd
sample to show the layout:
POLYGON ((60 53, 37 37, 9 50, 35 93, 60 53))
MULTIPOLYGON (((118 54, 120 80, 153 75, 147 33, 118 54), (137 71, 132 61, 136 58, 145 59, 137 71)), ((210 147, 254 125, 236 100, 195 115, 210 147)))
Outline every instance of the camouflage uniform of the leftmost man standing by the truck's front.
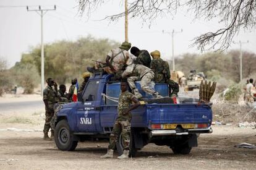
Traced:
POLYGON ((51 127, 50 122, 54 114, 54 104, 57 102, 56 91, 49 87, 49 85, 43 90, 43 101, 48 103, 48 108, 45 107, 45 127, 43 128, 43 132, 49 132, 51 127))

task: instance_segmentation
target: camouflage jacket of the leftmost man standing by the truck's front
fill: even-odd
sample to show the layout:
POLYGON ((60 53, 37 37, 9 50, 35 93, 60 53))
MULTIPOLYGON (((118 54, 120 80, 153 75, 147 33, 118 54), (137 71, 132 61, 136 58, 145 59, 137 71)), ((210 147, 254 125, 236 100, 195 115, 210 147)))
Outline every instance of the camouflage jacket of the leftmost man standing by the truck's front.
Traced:
POLYGON ((49 85, 43 90, 43 101, 47 101, 49 108, 53 109, 53 105, 58 101, 57 92, 49 85))

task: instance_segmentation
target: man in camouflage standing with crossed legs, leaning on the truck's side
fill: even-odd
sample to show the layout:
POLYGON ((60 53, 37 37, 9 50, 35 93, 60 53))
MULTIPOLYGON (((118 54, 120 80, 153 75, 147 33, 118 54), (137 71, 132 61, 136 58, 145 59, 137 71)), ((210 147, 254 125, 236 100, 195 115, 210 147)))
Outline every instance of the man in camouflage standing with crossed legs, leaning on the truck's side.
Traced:
POLYGON ((127 90, 127 82, 121 82, 121 93, 118 100, 118 116, 114 122, 113 130, 109 137, 108 153, 101 156, 101 158, 113 158, 114 148, 116 148, 117 137, 122 133, 122 140, 124 141, 124 153, 117 157, 119 159, 124 159, 129 157, 129 147, 130 147, 130 121, 132 119, 132 114, 130 111, 136 109, 140 106, 139 100, 135 98, 132 93, 127 90), (130 107, 130 104, 134 102, 134 105, 130 107))

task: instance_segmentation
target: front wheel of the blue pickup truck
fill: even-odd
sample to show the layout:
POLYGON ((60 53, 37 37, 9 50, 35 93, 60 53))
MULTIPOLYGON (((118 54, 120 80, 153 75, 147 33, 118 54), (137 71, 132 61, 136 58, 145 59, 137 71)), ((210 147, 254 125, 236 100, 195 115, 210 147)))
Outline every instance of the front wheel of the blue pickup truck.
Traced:
POLYGON ((74 140, 74 135, 70 132, 69 124, 67 124, 66 120, 61 120, 56 125, 54 140, 58 149, 62 151, 75 150, 78 142, 74 140))

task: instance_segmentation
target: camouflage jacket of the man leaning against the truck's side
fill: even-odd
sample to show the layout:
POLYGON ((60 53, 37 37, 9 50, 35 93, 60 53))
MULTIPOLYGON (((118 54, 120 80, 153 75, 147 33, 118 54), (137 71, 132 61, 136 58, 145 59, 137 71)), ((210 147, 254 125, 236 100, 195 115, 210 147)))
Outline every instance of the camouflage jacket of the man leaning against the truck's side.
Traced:
POLYGON ((121 92, 119 95, 119 100, 118 100, 118 118, 119 121, 123 120, 129 120, 132 118, 132 115, 130 113, 124 114, 124 110, 129 109, 130 104, 132 104, 132 98, 135 96, 132 95, 129 91, 124 91, 121 92))

